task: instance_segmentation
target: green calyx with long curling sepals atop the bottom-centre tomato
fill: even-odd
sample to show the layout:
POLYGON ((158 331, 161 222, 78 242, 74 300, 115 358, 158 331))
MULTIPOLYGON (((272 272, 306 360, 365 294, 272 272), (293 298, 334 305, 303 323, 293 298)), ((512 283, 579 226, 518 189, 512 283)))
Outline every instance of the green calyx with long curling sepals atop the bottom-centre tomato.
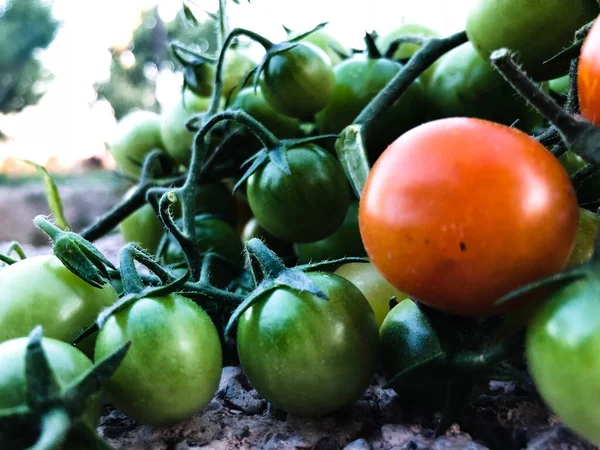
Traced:
POLYGON ((337 266, 347 262, 368 262, 365 258, 351 257, 288 268, 283 264, 283 261, 258 238, 250 239, 246 243, 245 250, 248 255, 248 260, 250 261, 250 272, 256 287, 231 314, 231 317, 225 326, 224 335, 226 340, 229 340, 231 330, 244 311, 259 300, 266 292, 287 287, 298 292, 308 292, 327 301, 327 295, 305 272, 333 270, 337 266))

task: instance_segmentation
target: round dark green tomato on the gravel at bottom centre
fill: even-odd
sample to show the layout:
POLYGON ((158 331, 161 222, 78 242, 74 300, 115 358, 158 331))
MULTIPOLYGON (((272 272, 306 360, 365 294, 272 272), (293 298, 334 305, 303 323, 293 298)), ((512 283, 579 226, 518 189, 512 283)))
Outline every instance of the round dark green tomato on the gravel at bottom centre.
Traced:
POLYGON ((331 273, 308 273, 329 297, 279 287, 240 318, 237 349, 258 393, 292 414, 313 416, 351 405, 377 360, 375 315, 362 293, 331 273))

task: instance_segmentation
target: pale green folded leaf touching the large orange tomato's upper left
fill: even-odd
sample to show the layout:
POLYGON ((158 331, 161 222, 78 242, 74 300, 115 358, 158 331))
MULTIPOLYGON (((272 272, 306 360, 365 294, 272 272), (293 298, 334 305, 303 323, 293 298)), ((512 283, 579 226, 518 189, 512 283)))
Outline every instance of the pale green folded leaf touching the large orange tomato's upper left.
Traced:
POLYGON ((371 170, 362 138, 362 125, 347 126, 335 141, 335 150, 354 193, 360 198, 371 170))

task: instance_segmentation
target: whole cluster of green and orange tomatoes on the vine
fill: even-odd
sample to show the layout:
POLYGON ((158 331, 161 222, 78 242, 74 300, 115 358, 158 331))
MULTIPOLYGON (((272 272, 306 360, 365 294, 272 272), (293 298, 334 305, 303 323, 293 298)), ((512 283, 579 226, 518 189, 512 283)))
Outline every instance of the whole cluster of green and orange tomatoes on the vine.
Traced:
POLYGON ((376 370, 403 401, 439 408, 525 342, 543 398, 600 442, 600 23, 577 73, 559 54, 600 6, 534 3, 480 0, 460 42, 404 24, 367 34, 362 54, 321 27, 280 43, 232 31, 206 79, 118 124, 110 150, 139 181, 114 211, 83 237, 36 222, 55 255, 4 257, 0 412, 25 402, 22 338, 37 325, 61 386, 91 370, 85 355, 130 345, 105 391, 149 425, 200 412, 238 361, 291 414, 351 405, 376 370), (262 61, 230 48, 240 35, 262 61), (490 59, 501 48, 532 76, 518 90, 537 110, 490 59), (544 118, 549 92, 569 113, 579 99, 581 117, 561 117, 586 139, 544 118), (118 267, 89 242, 117 224, 118 267))

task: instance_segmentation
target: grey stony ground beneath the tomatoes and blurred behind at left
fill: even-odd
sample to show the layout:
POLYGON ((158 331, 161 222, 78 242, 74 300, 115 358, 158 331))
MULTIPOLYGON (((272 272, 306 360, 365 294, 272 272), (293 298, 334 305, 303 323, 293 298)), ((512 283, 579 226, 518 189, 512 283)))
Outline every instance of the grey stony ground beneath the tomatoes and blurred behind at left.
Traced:
MULTIPOLYGON (((31 230, 19 230, 19 220, 26 224, 30 220, 28 216, 33 218, 38 211, 35 205, 40 203, 38 200, 34 206, 27 203, 26 194, 34 199, 40 196, 39 192, 28 189, 25 193, 14 188, 9 193, 0 192, 4 228, 0 241, 14 239, 20 232, 24 236, 20 240, 29 242, 25 245, 29 255, 48 253, 50 249, 43 246, 47 243, 45 237, 38 235, 28 239, 31 230), (13 204, 15 198, 25 199, 25 204, 19 208, 7 207, 6 200, 13 204)), ((84 208, 87 215, 81 226, 114 203, 118 197, 111 192, 104 189, 93 194, 102 207, 84 208)), ((77 197, 73 192, 73 200, 65 203, 73 204, 77 197)), ((69 211, 71 217, 80 217, 77 209, 69 211)), ((122 241, 118 235, 111 235, 96 245, 109 259, 116 261, 122 241)), ((309 419, 270 407, 252 389, 238 367, 225 367, 215 398, 196 417, 171 427, 153 428, 141 426, 106 405, 99 432, 117 450, 597 449, 563 427, 543 405, 530 383, 492 382, 488 391, 466 408, 459 423, 440 437, 433 433, 439 415, 407 408, 393 391, 383 389, 382 384, 383 380, 376 377, 353 406, 309 419)))

